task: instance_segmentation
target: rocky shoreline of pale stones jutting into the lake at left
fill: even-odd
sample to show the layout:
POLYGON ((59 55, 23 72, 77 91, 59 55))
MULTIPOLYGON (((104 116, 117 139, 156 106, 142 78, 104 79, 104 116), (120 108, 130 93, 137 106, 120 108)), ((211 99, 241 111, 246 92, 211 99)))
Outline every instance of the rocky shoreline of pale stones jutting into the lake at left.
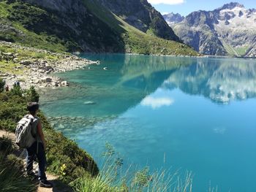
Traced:
POLYGON ((5 64, 0 63, 0 77, 5 80, 6 85, 10 88, 12 88, 15 82, 20 82, 21 88, 29 88, 30 86, 34 86, 35 88, 68 86, 69 83, 67 81, 61 80, 59 77, 55 77, 52 74, 83 69, 89 64, 99 64, 99 61, 90 61, 76 55, 53 53, 48 50, 15 45, 11 42, 0 42, 0 45, 10 47, 13 50, 45 54, 48 55, 48 58, 54 58, 24 58, 21 57, 19 53, 0 51, 0 61, 7 62, 5 64), (7 67, 8 64, 15 64, 15 66, 12 67, 12 72, 2 72, 1 69, 7 67))

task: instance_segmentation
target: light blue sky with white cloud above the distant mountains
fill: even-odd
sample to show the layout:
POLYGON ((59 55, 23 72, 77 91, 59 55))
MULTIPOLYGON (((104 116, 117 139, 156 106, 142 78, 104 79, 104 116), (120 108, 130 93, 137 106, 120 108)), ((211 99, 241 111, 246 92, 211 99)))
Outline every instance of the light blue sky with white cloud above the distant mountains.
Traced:
POLYGON ((174 12, 184 16, 198 10, 214 10, 231 1, 244 4, 247 9, 256 8, 255 0, 148 0, 162 14, 174 12))

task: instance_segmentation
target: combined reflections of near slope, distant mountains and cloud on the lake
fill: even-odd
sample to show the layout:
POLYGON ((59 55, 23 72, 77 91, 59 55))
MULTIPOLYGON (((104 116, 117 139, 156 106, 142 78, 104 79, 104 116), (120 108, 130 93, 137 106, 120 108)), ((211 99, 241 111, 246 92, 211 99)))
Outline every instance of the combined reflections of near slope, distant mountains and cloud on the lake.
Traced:
POLYGON ((256 95, 255 60, 178 58, 145 55, 85 55, 101 61, 90 69, 58 74, 70 88, 42 90, 48 115, 106 117, 138 104, 170 105, 172 99, 146 97, 157 88, 202 95, 219 104, 256 95), (103 70, 108 67, 108 71, 103 70))

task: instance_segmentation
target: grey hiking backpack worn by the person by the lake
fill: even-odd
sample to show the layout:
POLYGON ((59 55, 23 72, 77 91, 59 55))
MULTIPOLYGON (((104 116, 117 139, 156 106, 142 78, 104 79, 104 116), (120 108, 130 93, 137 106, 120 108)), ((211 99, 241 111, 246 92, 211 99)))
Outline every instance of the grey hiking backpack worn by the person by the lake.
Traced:
POLYGON ((34 117, 25 115, 17 124, 15 130, 15 142, 20 148, 28 148, 36 141, 32 134, 34 117))

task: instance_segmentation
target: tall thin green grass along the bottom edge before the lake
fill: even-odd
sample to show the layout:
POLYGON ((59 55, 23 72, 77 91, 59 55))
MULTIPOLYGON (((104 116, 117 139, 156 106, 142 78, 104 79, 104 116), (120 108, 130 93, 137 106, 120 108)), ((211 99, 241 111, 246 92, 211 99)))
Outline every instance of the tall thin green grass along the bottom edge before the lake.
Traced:
POLYGON ((160 170, 149 172, 149 168, 133 169, 131 164, 123 170, 123 160, 107 144, 107 156, 102 166, 100 174, 95 178, 80 177, 72 183, 77 192, 167 192, 167 191, 192 191, 192 174, 187 172, 181 177, 178 172, 170 174, 170 171, 160 170))

